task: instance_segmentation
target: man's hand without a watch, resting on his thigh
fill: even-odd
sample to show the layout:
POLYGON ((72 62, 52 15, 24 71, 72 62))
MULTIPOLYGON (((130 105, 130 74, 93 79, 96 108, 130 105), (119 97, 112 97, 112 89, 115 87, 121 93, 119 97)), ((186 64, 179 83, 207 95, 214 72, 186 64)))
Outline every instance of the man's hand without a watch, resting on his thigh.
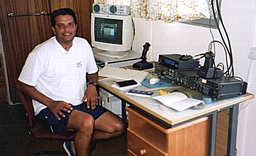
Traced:
POLYGON ((60 120, 60 116, 63 118, 66 117, 61 111, 70 113, 70 110, 73 109, 70 104, 65 103, 64 101, 53 101, 51 104, 49 104, 49 108, 58 120, 60 120))

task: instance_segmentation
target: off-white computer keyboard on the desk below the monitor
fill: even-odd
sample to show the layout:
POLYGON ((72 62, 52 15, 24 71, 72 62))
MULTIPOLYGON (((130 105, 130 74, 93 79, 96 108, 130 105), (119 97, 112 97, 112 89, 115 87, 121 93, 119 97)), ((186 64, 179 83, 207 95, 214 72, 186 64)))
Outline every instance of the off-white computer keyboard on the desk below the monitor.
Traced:
POLYGON ((142 82, 147 77, 147 71, 136 71, 120 67, 105 66, 99 70, 99 76, 117 78, 121 80, 136 80, 142 82))

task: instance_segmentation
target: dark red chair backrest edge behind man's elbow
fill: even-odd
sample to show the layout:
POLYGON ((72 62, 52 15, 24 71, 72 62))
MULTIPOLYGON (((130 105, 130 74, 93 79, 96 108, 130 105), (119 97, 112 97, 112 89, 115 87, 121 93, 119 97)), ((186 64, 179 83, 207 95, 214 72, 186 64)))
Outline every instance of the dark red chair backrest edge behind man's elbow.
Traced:
POLYGON ((32 99, 23 92, 18 92, 18 95, 20 97, 20 100, 26 110, 26 113, 28 115, 28 124, 30 128, 33 128, 35 126, 35 111, 33 108, 32 99))

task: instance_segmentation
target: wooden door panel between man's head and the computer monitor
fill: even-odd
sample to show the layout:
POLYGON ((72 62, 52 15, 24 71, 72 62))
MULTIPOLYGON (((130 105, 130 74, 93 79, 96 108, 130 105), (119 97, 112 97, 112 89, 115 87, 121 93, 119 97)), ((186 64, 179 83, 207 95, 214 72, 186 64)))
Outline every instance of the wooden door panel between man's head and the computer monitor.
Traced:
POLYGON ((91 13, 93 0, 51 0, 51 11, 58 8, 71 8, 77 17, 76 36, 91 43, 91 13))

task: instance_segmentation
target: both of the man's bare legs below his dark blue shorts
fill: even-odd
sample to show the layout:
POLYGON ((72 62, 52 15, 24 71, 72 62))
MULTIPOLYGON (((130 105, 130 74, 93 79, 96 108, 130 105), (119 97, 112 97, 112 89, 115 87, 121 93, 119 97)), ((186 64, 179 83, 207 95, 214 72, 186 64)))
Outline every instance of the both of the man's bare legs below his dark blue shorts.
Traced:
POLYGON ((125 130, 124 122, 109 111, 94 121, 88 113, 74 110, 70 115, 67 127, 77 131, 74 141, 77 156, 88 154, 92 139, 119 136, 125 130))

